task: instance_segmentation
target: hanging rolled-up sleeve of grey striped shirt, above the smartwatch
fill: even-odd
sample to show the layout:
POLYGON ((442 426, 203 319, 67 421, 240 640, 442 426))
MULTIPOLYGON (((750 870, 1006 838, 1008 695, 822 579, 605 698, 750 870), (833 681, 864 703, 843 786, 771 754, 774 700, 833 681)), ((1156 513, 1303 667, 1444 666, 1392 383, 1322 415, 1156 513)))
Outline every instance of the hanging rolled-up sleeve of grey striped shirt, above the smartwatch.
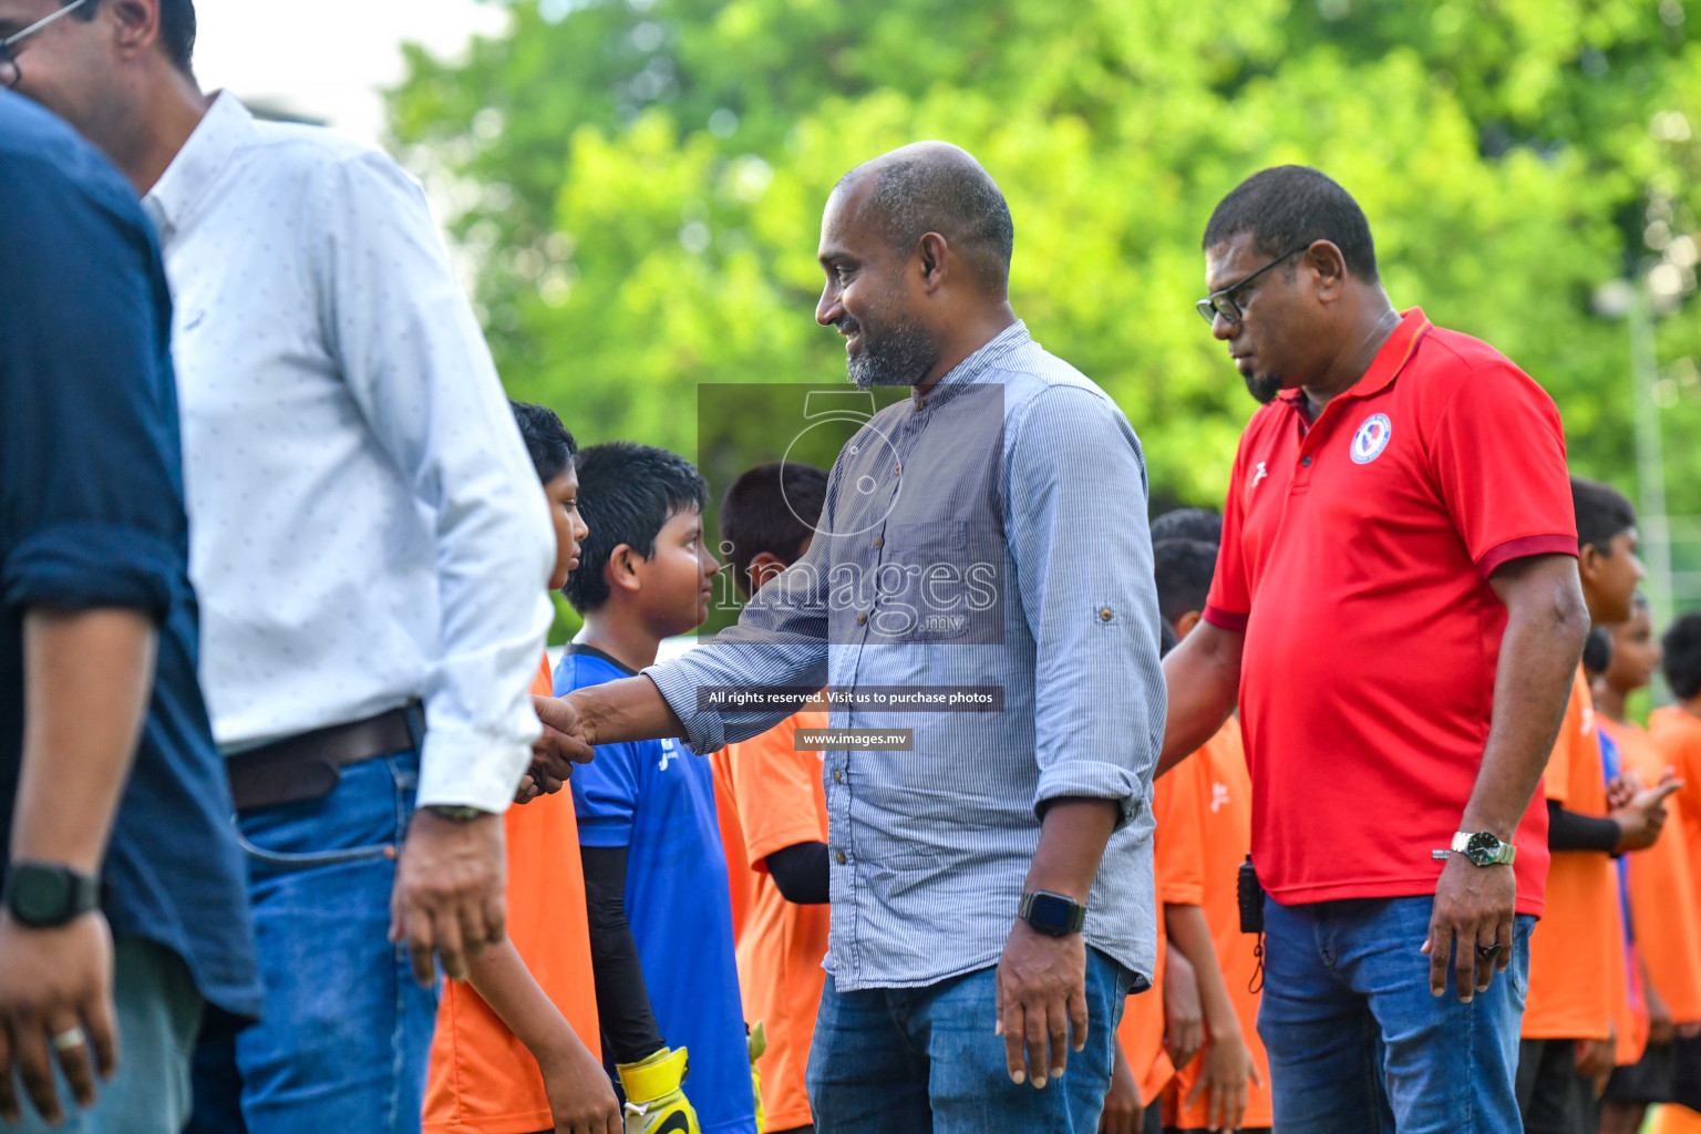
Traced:
POLYGON ((1034 809, 1138 814, 1163 738, 1158 604, 1140 440, 1095 391, 1041 393, 1005 469, 1015 583, 1034 636, 1034 809))

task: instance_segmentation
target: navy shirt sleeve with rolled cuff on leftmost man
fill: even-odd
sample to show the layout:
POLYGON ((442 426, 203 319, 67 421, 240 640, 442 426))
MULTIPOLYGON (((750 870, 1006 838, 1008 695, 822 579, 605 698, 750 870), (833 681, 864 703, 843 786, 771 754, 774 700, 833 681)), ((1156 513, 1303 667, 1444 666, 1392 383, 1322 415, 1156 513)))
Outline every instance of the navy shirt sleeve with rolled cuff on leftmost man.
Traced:
POLYGON ((51 163, 15 165, 27 172, 0 240, 0 602, 163 622, 189 593, 163 269, 139 214, 51 163))

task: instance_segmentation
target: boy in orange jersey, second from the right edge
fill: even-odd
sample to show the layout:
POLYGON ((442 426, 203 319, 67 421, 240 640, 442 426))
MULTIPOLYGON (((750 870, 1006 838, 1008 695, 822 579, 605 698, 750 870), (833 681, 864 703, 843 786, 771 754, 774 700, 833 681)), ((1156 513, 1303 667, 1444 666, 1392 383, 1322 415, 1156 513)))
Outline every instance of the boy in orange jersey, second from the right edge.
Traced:
MULTIPOLYGON (((1648 600, 1638 593, 1630 621, 1613 627, 1613 658, 1594 685, 1601 733, 1618 748, 1624 791, 1674 779, 1647 731, 1624 717, 1626 697, 1647 689, 1658 663, 1648 600)), ((1682 811, 1681 799, 1667 806, 1682 811)), ((1672 1102, 1672 1040, 1679 1025, 1701 1023, 1701 913, 1684 840, 1682 821, 1669 821, 1653 847, 1624 864, 1647 1017, 1638 1025, 1647 1032, 1647 1047, 1641 1059, 1618 1068, 1607 1081, 1601 1134, 1635 1134, 1648 1103, 1672 1102)))

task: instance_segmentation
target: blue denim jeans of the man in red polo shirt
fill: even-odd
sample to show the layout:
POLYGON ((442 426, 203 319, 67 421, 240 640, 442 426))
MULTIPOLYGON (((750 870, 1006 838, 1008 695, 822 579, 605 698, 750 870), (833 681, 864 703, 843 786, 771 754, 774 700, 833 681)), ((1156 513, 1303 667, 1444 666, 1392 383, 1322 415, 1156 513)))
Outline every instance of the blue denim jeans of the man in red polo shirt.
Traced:
MULTIPOLYGON (((1459 1003, 1429 991, 1432 898, 1264 903, 1259 1035, 1277 1131, 1514 1134, 1529 930, 1512 964, 1459 1003)), ((1451 969, 1449 969, 1451 974, 1451 969)))

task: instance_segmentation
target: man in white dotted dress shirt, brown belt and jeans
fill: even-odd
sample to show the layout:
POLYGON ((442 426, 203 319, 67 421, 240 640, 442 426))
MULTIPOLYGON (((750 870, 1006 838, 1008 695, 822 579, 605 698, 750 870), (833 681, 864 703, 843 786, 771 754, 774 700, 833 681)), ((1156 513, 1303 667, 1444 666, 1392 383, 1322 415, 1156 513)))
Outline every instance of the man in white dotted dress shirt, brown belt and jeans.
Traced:
POLYGON ((172 284, 201 680, 267 984, 260 1025, 202 1044, 191 1129, 417 1131, 434 955, 459 974, 503 932, 546 503, 418 185, 202 95, 192 0, 0 0, 0 39, 56 14, 19 90, 134 182, 172 284))

